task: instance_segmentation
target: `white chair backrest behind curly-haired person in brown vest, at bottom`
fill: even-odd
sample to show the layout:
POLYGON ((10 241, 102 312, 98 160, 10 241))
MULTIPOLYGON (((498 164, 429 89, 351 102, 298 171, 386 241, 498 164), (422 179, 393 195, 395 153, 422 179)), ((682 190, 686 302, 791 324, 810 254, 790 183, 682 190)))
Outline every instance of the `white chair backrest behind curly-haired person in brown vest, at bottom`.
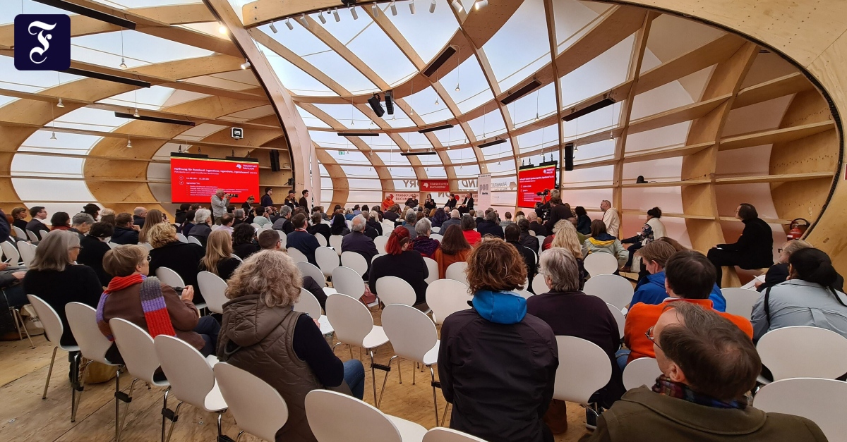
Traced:
POLYGON ((214 364, 212 370, 238 428, 260 439, 276 440, 276 432, 288 422, 288 406, 280 392, 226 362, 214 364))

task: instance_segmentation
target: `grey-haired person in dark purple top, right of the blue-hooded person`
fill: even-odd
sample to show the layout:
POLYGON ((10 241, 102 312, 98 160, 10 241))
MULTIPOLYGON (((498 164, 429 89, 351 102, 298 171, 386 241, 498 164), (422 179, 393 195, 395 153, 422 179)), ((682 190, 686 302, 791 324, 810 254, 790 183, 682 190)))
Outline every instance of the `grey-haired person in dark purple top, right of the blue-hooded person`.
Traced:
MULTIPOLYGON (((604 408, 612 406, 626 391, 623 372, 615 363, 615 352, 621 346, 617 320, 605 301, 579 289, 579 265, 571 251, 562 247, 546 251, 541 255, 540 268, 539 278, 545 279, 550 291, 529 297, 527 313, 550 325, 556 336, 576 336, 606 351, 612 364, 612 378, 597 392, 594 401, 604 408)), ((596 425, 593 410, 586 408, 585 417, 590 425, 596 425)), ((567 426, 567 420, 564 424, 567 426)))

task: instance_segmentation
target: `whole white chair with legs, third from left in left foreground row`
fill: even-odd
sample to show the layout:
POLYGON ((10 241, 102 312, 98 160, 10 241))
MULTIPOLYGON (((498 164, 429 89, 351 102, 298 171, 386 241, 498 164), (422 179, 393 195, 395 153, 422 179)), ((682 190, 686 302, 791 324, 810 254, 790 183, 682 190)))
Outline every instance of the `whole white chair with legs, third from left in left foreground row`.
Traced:
MULTIPOLYGON (((132 401, 132 390, 136 386, 136 381, 139 379, 148 386, 167 389, 164 391, 164 405, 162 407, 162 434, 164 435, 164 421, 168 418, 167 411, 169 410, 168 391, 170 390, 170 384, 167 379, 162 380, 155 375, 159 367, 159 361, 158 356, 156 356, 156 350, 153 348, 153 339, 147 331, 125 319, 109 319, 108 326, 109 329, 112 329, 114 343, 118 345, 118 351, 120 351, 120 356, 124 359, 126 371, 133 377, 130 384, 130 392, 126 395, 123 392, 115 395, 119 399, 125 396, 125 399, 121 399, 121 401, 126 403, 124 417, 120 419, 120 422, 118 422, 119 401, 116 400, 114 404, 115 439, 120 439, 120 434, 124 428, 124 421, 126 420, 130 409, 130 402, 132 401)), ((173 419, 170 420, 173 422, 173 419)))

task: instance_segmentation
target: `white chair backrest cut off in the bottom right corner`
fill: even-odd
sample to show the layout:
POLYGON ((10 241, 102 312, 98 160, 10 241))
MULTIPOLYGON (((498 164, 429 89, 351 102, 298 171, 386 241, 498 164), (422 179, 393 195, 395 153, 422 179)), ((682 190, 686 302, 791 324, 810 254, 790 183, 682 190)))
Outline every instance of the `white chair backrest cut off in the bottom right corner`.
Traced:
POLYGON ((821 378, 783 379, 761 387, 753 406, 762 412, 805 417, 821 428, 827 439, 847 434, 847 382, 821 378))

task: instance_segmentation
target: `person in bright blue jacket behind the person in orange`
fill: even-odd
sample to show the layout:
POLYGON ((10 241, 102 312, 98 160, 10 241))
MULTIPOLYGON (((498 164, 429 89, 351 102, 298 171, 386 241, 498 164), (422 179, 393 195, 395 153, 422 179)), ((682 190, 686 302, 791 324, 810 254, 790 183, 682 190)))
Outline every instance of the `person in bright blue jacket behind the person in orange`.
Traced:
MULTIPOLYGON (((649 275, 639 280, 635 285, 633 300, 629 303, 632 307, 638 302, 645 304, 661 304, 667 298, 665 289, 665 262, 667 258, 676 253, 676 249, 665 241, 653 241, 641 247, 638 251, 641 256, 641 265, 650 272, 649 275)), ((723 298, 721 289, 716 285, 711 287, 712 308, 718 312, 727 311, 727 300, 723 298)))

